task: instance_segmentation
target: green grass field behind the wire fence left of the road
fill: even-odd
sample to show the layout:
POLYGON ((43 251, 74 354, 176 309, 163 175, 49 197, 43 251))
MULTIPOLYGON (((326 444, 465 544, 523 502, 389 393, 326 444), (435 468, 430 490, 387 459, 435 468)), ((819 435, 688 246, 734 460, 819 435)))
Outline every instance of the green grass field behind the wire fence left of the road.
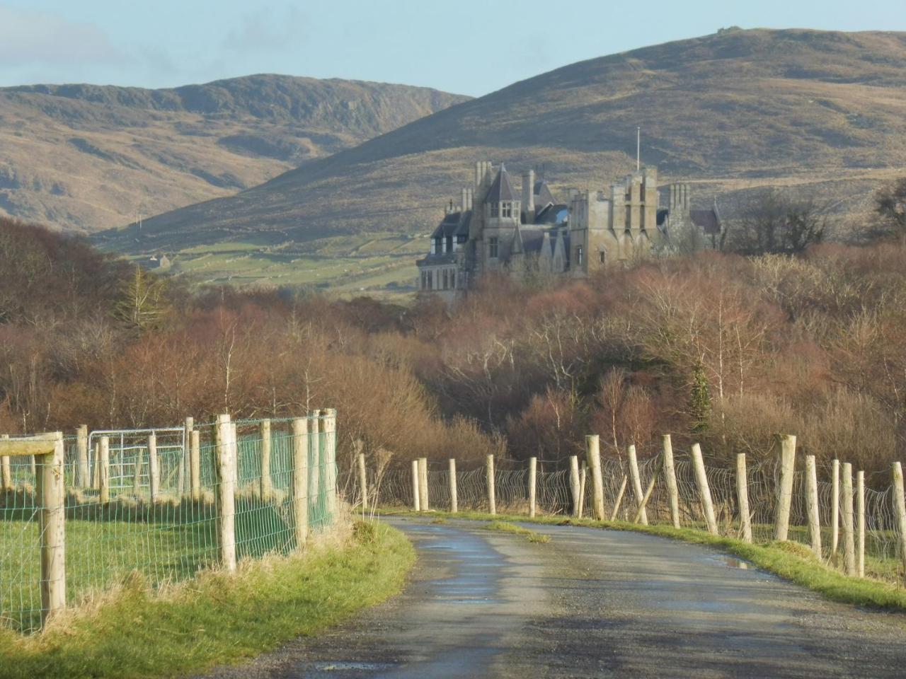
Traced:
MULTIPOLYGON (((38 523, 24 516, 0 521, 2 626, 32 630, 41 619, 38 523)), ((191 578, 217 565, 213 506, 184 502, 153 512, 113 502, 102 512, 71 509, 66 520, 66 593, 78 604, 138 573, 152 586, 191 578)), ((236 503, 237 556, 286 554, 293 531, 273 506, 253 499, 236 503)))

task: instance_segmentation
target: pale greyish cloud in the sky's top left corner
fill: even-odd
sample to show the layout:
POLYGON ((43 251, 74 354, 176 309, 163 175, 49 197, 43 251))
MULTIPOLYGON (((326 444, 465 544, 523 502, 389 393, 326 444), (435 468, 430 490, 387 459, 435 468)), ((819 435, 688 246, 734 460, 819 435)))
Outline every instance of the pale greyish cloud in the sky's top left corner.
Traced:
POLYGON ((32 65, 122 62, 126 56, 95 24, 57 14, 0 6, 0 64, 32 65))

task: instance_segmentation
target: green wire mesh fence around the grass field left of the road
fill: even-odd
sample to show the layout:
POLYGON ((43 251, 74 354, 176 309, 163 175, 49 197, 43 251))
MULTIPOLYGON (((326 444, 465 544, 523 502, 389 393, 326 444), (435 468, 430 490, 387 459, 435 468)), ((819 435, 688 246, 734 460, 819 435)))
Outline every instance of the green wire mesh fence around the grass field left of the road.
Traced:
MULTIPOLYGON (((227 485, 233 535, 226 547, 235 559, 286 554, 301 546, 300 536, 329 530, 337 513, 334 422, 328 410, 240 420, 229 423, 232 446, 223 427, 190 420, 180 427, 65 436, 67 605, 127 577, 159 588, 222 566, 227 485), (225 479, 220 462, 230 448, 234 471, 225 479), (300 478, 304 488, 296 488, 300 478)), ((29 632, 49 612, 42 598, 47 497, 36 483, 43 462, 23 455, 0 456, 0 462, 0 625, 29 632)))

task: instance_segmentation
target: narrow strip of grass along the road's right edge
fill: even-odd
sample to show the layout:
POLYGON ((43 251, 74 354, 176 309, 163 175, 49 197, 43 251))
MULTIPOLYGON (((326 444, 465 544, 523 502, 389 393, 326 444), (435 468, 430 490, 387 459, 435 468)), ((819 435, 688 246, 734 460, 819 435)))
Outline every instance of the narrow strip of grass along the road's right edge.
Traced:
MULTIPOLYGON (((419 516, 415 512, 384 512, 419 516)), ((542 516, 529 519, 525 516, 510 514, 484 514, 480 512, 432 512, 432 516, 467 519, 473 521, 492 521, 506 525, 512 521, 521 523, 575 525, 588 528, 609 529, 612 531, 638 531, 657 535, 672 540, 683 540, 694 544, 706 545, 717 550, 728 552, 740 559, 746 559, 759 569, 774 573, 780 578, 795 582, 805 588, 834 601, 856 606, 882 608, 906 612, 906 588, 888 582, 868 578, 853 578, 838 570, 825 566, 814 557, 811 550, 798 542, 766 542, 749 544, 735 538, 724 538, 711 535, 705 531, 676 529, 672 526, 641 526, 626 521, 592 521, 590 519, 567 519, 563 516, 542 516)), ((519 529, 520 526, 514 526, 519 529)), ((524 529, 528 530, 528 529, 524 529)), ((512 531, 515 532, 515 531, 512 531)))

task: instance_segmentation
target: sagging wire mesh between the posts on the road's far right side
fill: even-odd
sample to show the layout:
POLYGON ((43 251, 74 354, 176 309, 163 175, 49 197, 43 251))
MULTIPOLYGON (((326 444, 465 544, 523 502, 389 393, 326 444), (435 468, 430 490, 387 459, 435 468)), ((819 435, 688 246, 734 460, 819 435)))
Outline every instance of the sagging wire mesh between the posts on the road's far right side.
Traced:
MULTIPOLYGON (((670 493, 665 483, 665 471, 660 456, 647 451, 647 459, 639 461, 639 486, 637 493, 632 478, 631 466, 625 459, 601 457, 602 491, 605 518, 634 521, 641 498, 654 478, 651 495, 644 505, 644 512, 650 524, 672 524, 670 493)), ((593 484, 584 467, 581 469, 578 486, 582 499, 573 497, 571 472, 564 469, 564 461, 536 461, 535 512, 546 515, 582 516, 593 518, 593 484), (581 508, 581 514, 575 513, 581 508)), ((708 530, 708 521, 703 509, 702 495, 691 457, 688 454, 674 455, 674 469, 677 483, 679 525, 683 528, 708 530)), ((717 531, 720 535, 741 538, 742 521, 737 495, 737 470, 716 464, 705 464, 705 475, 714 507, 717 531)), ((837 468, 839 473, 839 467, 837 468)), ((779 461, 761 461, 748 464, 746 469, 747 501, 752 538, 756 542, 774 540, 777 520, 777 496, 780 488, 782 469, 779 461)), ((345 472, 342 486, 346 488, 353 506, 361 506, 361 484, 356 478, 358 471, 352 468, 345 472)), ((407 507, 415 506, 413 472, 410 468, 378 470, 369 467, 367 472, 368 506, 407 507)), ((428 463, 429 509, 448 510, 451 492, 449 467, 446 461, 428 463)), ((853 474, 854 475, 854 474, 853 474)), ((817 507, 820 522, 821 555, 825 564, 844 569, 843 559, 843 493, 842 480, 838 478, 837 492, 834 493, 834 467, 826 465, 817 468, 817 507), (834 512, 836 505, 836 512, 834 512), (836 522, 836 530, 834 530, 836 522), (834 537, 835 536, 835 537, 834 537)), ((898 531, 898 517, 895 510, 895 489, 891 484, 890 472, 867 474, 864 485, 864 573, 868 577, 884 579, 901 584, 904 579, 904 559, 901 536, 898 531)), ((530 496, 529 465, 507 460, 495 461, 494 491, 496 512, 527 514, 530 496)), ((487 467, 473 462, 472 466, 458 463, 456 473, 458 511, 487 512, 489 493, 487 467)), ((787 540, 811 547, 811 533, 808 524, 806 502, 806 475, 803 469, 793 473, 793 491, 789 511, 787 540)), ((422 507, 424 509, 424 507, 422 507)), ((853 540, 858 541, 859 504, 853 489, 853 540)), ((858 544, 856 544, 858 547, 858 544)))

